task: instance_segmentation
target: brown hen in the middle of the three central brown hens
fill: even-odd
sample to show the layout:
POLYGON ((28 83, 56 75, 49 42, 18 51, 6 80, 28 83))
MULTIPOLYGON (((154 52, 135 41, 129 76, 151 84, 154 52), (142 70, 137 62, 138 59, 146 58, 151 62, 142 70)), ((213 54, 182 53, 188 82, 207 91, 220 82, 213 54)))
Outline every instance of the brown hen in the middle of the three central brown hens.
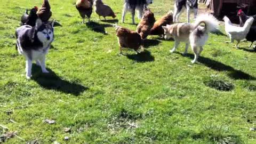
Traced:
POLYGON ((142 39, 146 39, 150 34, 150 29, 154 26, 155 17, 154 13, 151 12, 147 7, 143 10, 144 14, 137 26, 137 33, 140 34, 142 39))

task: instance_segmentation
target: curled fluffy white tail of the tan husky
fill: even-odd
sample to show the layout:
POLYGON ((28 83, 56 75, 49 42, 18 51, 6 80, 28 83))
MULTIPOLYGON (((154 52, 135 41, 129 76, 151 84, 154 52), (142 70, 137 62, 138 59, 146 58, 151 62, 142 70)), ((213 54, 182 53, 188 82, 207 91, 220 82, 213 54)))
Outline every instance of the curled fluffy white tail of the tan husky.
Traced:
POLYGON ((210 13, 199 14, 196 18, 194 29, 201 23, 205 25, 205 33, 216 31, 219 28, 219 21, 210 13))

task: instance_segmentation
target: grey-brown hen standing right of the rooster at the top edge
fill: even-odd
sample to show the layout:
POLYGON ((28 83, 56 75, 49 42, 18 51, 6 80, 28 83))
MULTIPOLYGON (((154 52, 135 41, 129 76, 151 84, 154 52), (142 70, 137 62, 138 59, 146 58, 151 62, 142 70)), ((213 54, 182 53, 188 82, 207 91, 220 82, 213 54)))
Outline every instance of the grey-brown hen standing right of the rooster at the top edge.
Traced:
POLYGON ((106 20, 106 17, 112 17, 112 18, 116 17, 116 14, 111 9, 111 7, 109 7, 106 4, 103 4, 102 0, 95 0, 94 6, 95 6, 95 12, 99 15, 99 18, 102 16, 106 20))

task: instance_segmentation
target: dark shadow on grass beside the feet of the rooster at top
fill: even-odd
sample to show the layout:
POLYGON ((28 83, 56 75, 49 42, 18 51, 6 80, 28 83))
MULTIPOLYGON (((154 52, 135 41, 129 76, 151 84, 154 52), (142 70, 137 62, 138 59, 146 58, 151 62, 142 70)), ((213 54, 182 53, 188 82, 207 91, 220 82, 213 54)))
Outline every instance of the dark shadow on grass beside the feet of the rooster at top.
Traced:
POLYGON ((100 24, 100 23, 94 22, 94 21, 87 22, 86 26, 89 29, 91 29, 91 30, 93 30, 97 33, 102 33, 102 34, 105 34, 105 35, 107 35, 105 28, 106 27, 113 27, 112 25, 109 25, 109 24, 100 24))

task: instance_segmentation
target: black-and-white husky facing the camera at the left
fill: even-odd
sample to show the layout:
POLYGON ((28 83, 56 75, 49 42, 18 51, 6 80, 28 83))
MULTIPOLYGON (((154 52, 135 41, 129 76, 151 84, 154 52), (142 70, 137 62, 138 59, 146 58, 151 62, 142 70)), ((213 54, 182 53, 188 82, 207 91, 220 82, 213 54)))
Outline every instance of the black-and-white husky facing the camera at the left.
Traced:
POLYGON ((31 78, 32 62, 35 60, 41 66, 43 73, 49 73, 45 68, 45 55, 53 41, 53 23, 43 23, 36 20, 36 26, 24 25, 16 29, 18 52, 26 58, 26 77, 31 78))

